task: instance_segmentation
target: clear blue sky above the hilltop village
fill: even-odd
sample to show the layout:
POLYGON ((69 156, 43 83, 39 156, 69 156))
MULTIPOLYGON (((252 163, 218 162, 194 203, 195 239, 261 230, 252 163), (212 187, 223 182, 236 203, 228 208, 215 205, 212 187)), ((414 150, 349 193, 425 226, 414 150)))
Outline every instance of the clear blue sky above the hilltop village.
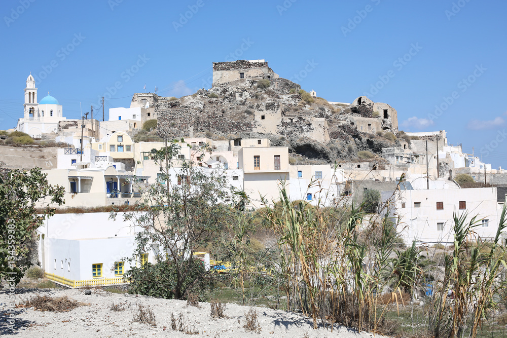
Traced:
POLYGON ((507 168, 506 12, 499 0, 4 0, 0 129, 23 116, 30 71, 65 117, 93 104, 101 119, 105 96, 107 120, 145 84, 179 97, 210 87, 212 62, 266 59, 329 101, 367 95, 400 129, 445 129, 507 168))

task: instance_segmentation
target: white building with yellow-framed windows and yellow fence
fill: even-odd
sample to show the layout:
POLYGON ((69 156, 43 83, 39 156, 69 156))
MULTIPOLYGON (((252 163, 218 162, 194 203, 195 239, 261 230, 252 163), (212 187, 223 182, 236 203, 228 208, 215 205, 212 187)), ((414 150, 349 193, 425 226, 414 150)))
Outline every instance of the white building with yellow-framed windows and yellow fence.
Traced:
MULTIPOLYGON (((45 220, 37 233, 39 260, 49 278, 70 286, 123 283, 123 273, 130 269, 125 257, 132 256, 141 229, 123 221, 123 213, 116 220, 109 216, 56 214, 45 220)), ((147 250, 143 258, 154 262, 153 256, 147 250)))

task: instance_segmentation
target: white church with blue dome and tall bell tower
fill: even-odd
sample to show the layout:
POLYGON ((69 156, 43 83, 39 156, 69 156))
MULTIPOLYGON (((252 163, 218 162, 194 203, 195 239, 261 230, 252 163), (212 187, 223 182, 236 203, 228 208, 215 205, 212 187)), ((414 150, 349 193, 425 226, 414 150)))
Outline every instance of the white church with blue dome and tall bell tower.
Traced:
POLYGON ((58 100, 49 95, 37 103, 35 80, 30 75, 26 79, 24 117, 18 120, 17 131, 27 133, 31 137, 42 137, 42 134, 56 134, 58 122, 66 120, 58 100))

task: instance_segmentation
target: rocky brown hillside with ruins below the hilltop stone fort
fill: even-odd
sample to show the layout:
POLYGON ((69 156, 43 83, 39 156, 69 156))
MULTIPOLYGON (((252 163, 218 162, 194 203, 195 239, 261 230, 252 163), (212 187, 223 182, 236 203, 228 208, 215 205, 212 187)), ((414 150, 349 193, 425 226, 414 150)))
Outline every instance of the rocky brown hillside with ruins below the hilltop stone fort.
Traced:
POLYGON ((367 119, 379 126, 383 122, 373 104, 356 101, 330 104, 282 78, 242 79, 159 100, 157 133, 169 138, 267 137, 272 145, 288 146, 293 163, 361 161, 358 152, 380 155, 383 147, 400 145, 394 137, 397 128, 361 131, 353 121, 367 119))

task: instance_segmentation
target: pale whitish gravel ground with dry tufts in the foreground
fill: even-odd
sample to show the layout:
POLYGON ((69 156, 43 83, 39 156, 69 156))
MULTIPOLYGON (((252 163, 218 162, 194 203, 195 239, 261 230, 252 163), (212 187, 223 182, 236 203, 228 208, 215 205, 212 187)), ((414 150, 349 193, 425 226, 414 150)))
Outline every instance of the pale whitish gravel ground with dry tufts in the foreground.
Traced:
MULTIPOLYGON (((372 334, 349 330, 335 326, 330 329, 313 329, 312 321, 300 314, 255 308, 261 326, 260 333, 246 332, 243 328, 245 312, 249 307, 227 304, 225 314, 228 318, 211 318, 209 303, 201 303, 199 308, 187 306, 187 302, 160 299, 139 295, 110 293, 91 289, 91 295, 85 290, 71 289, 17 289, 15 303, 18 304, 33 296, 68 296, 85 303, 72 311, 63 313, 41 312, 33 308, 16 308, 15 330, 8 328, 9 299, 8 292, 0 292, 0 336, 15 337, 192 337, 171 329, 171 313, 176 317, 183 314, 188 328, 198 331, 196 337, 370 337, 372 334), (123 303, 123 311, 111 310, 111 305, 123 303), (130 305, 130 306, 129 306, 130 305), (156 326, 132 322, 139 306, 149 307, 155 314, 156 326), (129 306, 129 307, 128 307, 129 306)), ((379 336, 381 337, 381 336, 379 336)))

